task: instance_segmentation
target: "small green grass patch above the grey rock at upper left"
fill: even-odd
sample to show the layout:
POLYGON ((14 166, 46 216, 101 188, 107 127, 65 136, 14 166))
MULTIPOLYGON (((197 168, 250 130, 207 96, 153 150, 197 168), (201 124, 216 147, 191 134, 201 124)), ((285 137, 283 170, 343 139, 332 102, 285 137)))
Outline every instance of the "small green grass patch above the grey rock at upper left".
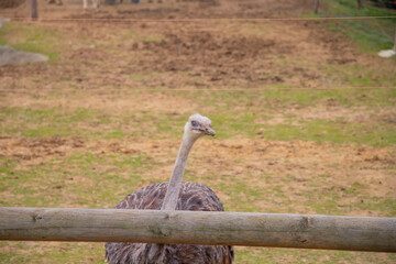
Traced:
POLYGON ((56 30, 35 24, 9 22, 0 29, 0 45, 10 45, 20 51, 45 54, 51 61, 56 59, 61 53, 62 42, 63 37, 56 30))

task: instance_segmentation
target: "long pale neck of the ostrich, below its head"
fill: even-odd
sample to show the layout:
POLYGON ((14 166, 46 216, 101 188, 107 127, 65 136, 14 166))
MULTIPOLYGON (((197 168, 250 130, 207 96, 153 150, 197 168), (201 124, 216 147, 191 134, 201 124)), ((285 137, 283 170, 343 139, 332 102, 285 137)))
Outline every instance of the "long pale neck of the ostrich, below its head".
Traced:
POLYGON ((183 135, 182 145, 177 154, 175 166, 172 172, 170 180, 161 210, 176 210, 188 154, 196 140, 197 138, 188 136, 186 133, 183 135))

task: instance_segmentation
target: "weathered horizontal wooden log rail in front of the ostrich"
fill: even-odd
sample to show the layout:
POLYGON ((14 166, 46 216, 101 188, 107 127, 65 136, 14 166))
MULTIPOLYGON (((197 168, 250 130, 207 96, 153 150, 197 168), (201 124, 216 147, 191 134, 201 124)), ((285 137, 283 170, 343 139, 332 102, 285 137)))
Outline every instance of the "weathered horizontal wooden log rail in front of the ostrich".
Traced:
POLYGON ((3 207, 0 240, 396 252, 396 218, 3 207))

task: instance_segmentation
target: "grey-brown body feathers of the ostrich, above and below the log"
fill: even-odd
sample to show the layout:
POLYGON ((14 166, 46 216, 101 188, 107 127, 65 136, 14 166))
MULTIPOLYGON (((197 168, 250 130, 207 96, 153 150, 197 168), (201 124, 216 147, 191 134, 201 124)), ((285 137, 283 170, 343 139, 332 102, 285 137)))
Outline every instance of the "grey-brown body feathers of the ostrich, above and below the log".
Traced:
MULTIPOLYGON (((117 209, 160 210, 168 183, 150 185, 125 197, 117 209)), ((223 211, 223 206, 208 186, 183 183, 177 210, 223 211)), ((233 248, 229 245, 184 245, 146 243, 106 243, 110 264, 231 264, 233 248)))

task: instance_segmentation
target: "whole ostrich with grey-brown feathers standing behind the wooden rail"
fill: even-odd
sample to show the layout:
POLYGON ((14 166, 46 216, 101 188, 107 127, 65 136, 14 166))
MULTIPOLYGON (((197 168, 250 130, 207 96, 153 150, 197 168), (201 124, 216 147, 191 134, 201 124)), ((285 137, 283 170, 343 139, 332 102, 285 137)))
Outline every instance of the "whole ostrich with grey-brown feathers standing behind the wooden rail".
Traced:
MULTIPOLYGON (((156 209, 223 211, 217 195, 206 185, 183 183, 188 154, 202 135, 215 135, 212 122, 199 113, 189 117, 184 128, 182 145, 169 183, 158 183, 127 196, 117 209, 156 209)), ((234 258, 230 245, 185 245, 147 243, 106 243, 106 258, 110 264, 231 264, 234 258)))

